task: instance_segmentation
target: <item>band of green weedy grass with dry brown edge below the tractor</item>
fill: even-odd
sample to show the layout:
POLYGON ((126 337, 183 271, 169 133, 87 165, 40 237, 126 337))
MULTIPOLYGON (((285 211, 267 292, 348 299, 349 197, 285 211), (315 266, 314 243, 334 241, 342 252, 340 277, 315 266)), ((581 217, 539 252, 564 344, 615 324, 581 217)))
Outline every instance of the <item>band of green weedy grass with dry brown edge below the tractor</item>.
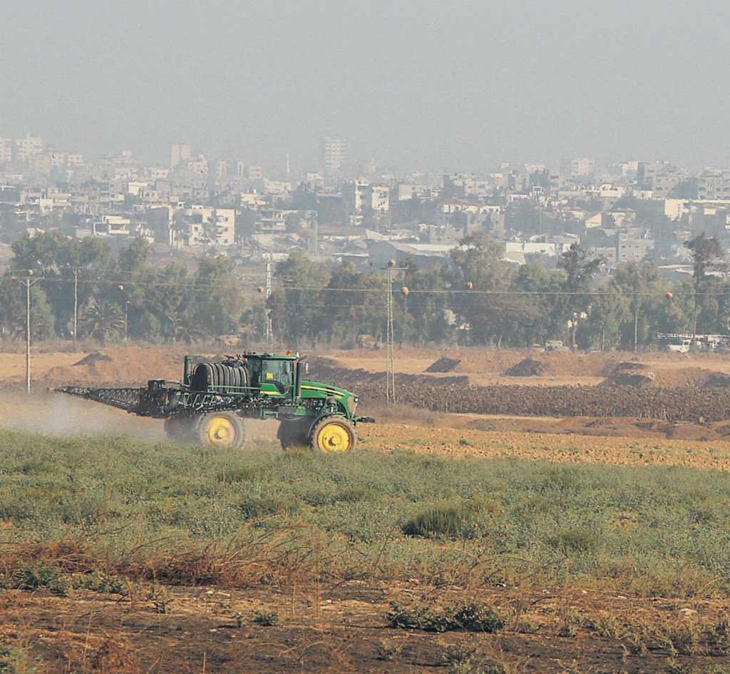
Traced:
POLYGON ((7 431, 0 447, 5 587, 99 575, 255 586, 316 570, 331 581, 579 583, 642 597, 729 589, 724 472, 7 431))

